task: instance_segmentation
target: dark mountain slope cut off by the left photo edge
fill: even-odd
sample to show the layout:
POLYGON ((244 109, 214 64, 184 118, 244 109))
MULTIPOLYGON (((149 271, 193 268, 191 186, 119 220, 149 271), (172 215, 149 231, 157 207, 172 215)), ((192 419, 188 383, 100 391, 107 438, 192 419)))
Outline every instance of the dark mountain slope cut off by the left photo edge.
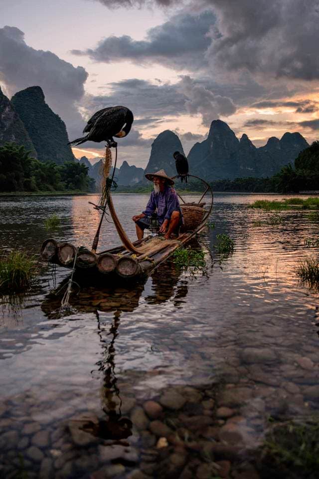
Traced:
POLYGON ((5 142, 23 145, 36 158, 34 145, 10 100, 0 88, 0 146, 5 142))

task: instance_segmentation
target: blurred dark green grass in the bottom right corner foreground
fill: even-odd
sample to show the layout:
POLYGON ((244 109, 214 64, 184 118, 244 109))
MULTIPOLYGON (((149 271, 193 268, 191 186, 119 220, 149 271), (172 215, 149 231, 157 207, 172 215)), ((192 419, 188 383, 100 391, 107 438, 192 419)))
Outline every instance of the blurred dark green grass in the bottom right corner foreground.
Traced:
MULTIPOLYGON (((266 435, 262 462, 277 473, 278 467, 294 471, 291 478, 315 477, 312 474, 319 468, 319 418, 275 424, 266 435)), ((287 477, 284 471, 282 477, 287 477)))

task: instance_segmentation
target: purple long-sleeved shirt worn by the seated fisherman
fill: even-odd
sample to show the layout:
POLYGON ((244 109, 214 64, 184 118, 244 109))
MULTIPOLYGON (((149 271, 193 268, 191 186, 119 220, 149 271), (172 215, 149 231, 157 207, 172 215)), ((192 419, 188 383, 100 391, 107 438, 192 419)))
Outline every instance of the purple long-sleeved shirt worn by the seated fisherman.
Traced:
POLYGON ((152 191, 146 210, 142 213, 146 216, 150 216, 156 210, 160 225, 164 220, 170 220, 173 211, 179 211, 180 222, 182 222, 183 216, 179 206, 178 197, 175 190, 170 186, 165 186, 163 192, 160 193, 152 191))

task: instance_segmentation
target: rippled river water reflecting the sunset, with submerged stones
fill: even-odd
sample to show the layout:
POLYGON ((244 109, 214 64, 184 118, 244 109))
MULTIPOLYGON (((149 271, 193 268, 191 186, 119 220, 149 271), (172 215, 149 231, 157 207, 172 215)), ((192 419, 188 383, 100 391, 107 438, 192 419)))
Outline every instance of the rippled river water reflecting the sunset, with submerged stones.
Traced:
MULTIPOLYGON (((254 226, 274 215, 247 208, 261 198, 215 196, 215 228, 193 245, 201 271, 168 262, 135 286, 85 286, 60 317, 52 290, 69 272, 43 263, 25 295, 0 299, 0 478, 270 477, 260 452, 273 422, 319 408, 318 294, 296 276, 319 224, 292 210, 254 226), (220 233, 235 240, 228 257, 215 252, 220 233)), ((147 199, 114 195, 131 239, 147 199)), ((90 246, 89 201, 2 197, 2 249, 38 255, 47 237, 90 246), (48 233, 53 213, 61 228, 48 233)), ((99 250, 118 242, 105 222, 99 250)))

